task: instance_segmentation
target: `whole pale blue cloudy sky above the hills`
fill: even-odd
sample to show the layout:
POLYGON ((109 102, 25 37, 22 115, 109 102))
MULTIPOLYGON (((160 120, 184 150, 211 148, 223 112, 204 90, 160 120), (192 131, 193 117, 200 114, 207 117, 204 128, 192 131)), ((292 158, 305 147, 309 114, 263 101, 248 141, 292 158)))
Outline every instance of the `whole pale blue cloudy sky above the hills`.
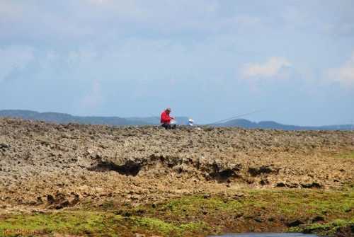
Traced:
POLYGON ((0 0, 0 110, 354 123, 353 0, 0 0))

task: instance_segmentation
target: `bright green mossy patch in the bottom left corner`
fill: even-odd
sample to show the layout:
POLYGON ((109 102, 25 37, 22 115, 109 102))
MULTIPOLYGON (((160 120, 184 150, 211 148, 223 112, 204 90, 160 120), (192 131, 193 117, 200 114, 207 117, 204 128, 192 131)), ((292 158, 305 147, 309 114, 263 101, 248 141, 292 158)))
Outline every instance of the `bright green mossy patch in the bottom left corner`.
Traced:
POLYGON ((52 214, 15 214, 0 220, 0 235, 40 236, 43 233, 70 233, 91 236, 130 236, 131 233, 159 233, 184 236, 207 231, 202 222, 174 225, 160 219, 123 217, 110 212, 62 211, 52 214))

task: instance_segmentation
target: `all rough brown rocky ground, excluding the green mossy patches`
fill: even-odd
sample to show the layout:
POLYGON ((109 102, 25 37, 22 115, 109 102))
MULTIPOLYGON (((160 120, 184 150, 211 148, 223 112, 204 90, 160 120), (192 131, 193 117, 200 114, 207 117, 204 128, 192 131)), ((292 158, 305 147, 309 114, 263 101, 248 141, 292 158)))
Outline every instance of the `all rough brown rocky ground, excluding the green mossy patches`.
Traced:
MULTIPOLYGON (((121 236, 188 236, 189 232, 194 233, 192 236, 197 236, 197 233, 203 236, 222 231, 284 231, 309 224, 306 214, 304 219, 295 220, 299 221, 295 224, 291 221, 296 214, 290 217, 279 214, 268 222, 257 221, 253 216, 250 223, 256 229, 245 226, 249 222, 242 221, 224 221, 225 224, 220 226, 213 224, 210 216, 229 215, 229 209, 225 209, 225 213, 222 208, 217 210, 219 212, 214 210, 211 213, 209 210, 200 216, 186 209, 185 213, 189 213, 186 216, 177 212, 167 215, 166 209, 158 208, 171 200, 183 202, 189 197, 202 197, 210 202, 216 198, 227 204, 233 203, 229 200, 236 197, 236 200, 241 200, 238 202, 244 203, 253 200, 256 191, 271 196, 268 202, 281 192, 289 198, 291 195, 304 195, 301 199, 314 197, 316 200, 321 196, 333 203, 336 203, 336 196, 331 195, 341 194, 346 197, 343 213, 331 212, 331 208, 337 208, 331 204, 326 206, 329 211, 319 215, 318 221, 329 224, 338 218, 350 220, 350 216, 354 216, 353 155, 354 132, 349 131, 299 132, 220 127, 165 130, 154 126, 57 125, 2 118, 0 230, 16 227, 16 223, 21 221, 8 222, 8 218, 19 213, 28 216, 37 212, 81 213, 83 210, 129 217, 122 223, 125 231, 121 236), (151 205, 155 211, 159 209, 159 213, 147 209, 151 205), (181 233, 176 230, 169 232, 162 231, 159 229, 161 225, 156 227, 154 222, 152 226, 143 225, 149 226, 148 230, 141 225, 131 229, 129 226, 132 224, 129 223, 136 220, 131 216, 157 219, 164 224, 203 221, 206 227, 188 229, 189 232, 183 232, 184 229, 176 229, 181 233), (1 220, 4 221, 2 225, 1 220)), ((301 201, 299 207, 300 204, 301 201)), ((202 207, 209 207, 205 205, 209 204, 203 201, 202 207)), ((202 207, 193 206, 198 210, 202 207)), ((256 207, 250 206, 244 212, 256 210, 256 207)), ((312 213, 311 218, 316 216, 318 213, 312 213)), ((239 217, 246 220, 244 213, 239 217)), ((33 227, 36 228, 38 226, 33 227)), ((348 226, 345 228, 349 228, 349 231, 345 229, 349 235, 354 232, 350 232, 348 226)), ((70 229, 67 233, 71 233, 70 229)), ((43 234, 57 233, 47 229, 43 234)), ((82 231, 76 234, 86 236, 82 231)))

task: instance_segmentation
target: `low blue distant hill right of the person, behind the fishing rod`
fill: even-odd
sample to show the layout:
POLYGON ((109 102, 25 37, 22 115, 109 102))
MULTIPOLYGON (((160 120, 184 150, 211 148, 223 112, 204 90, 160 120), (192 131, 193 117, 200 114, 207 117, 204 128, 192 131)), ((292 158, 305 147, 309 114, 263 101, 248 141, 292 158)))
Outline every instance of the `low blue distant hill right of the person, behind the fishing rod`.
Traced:
POLYGON ((351 130, 354 125, 326 125, 326 126, 296 126, 282 125, 273 121, 251 122, 244 119, 229 120, 214 124, 215 127, 244 127, 244 128, 261 128, 261 129, 280 129, 280 130, 351 130))

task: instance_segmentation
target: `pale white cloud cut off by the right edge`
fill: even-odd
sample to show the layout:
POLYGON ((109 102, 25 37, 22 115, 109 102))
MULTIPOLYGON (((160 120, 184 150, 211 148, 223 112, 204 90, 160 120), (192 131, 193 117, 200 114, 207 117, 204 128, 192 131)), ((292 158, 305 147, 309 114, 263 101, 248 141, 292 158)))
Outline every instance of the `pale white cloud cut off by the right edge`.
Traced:
POLYGON ((354 52, 343 66, 336 69, 329 69, 328 76, 329 80, 336 81, 342 86, 354 87, 354 52))

